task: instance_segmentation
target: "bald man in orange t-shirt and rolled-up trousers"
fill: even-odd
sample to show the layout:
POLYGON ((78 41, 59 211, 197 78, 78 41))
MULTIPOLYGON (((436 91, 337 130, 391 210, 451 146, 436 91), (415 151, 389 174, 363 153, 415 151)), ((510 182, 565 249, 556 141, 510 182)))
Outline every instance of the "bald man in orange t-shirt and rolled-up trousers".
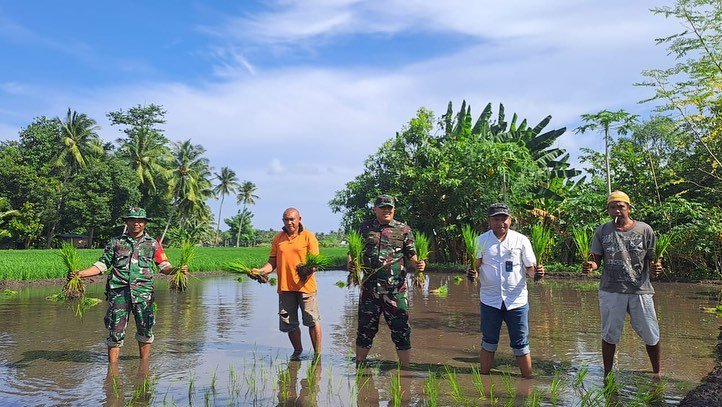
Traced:
MULTIPOLYGON (((303 228, 301 214, 296 208, 283 212, 283 231, 278 232, 271 243, 271 255, 261 268, 253 269, 260 274, 278 274, 279 329, 288 333, 293 345, 291 360, 300 360, 303 352, 298 309, 303 324, 308 327, 314 357, 321 354, 321 324, 316 299, 316 277, 311 274, 302 279, 296 266, 306 261, 306 253, 318 254, 316 235, 303 228)), ((315 270, 313 270, 315 271, 315 270)))

